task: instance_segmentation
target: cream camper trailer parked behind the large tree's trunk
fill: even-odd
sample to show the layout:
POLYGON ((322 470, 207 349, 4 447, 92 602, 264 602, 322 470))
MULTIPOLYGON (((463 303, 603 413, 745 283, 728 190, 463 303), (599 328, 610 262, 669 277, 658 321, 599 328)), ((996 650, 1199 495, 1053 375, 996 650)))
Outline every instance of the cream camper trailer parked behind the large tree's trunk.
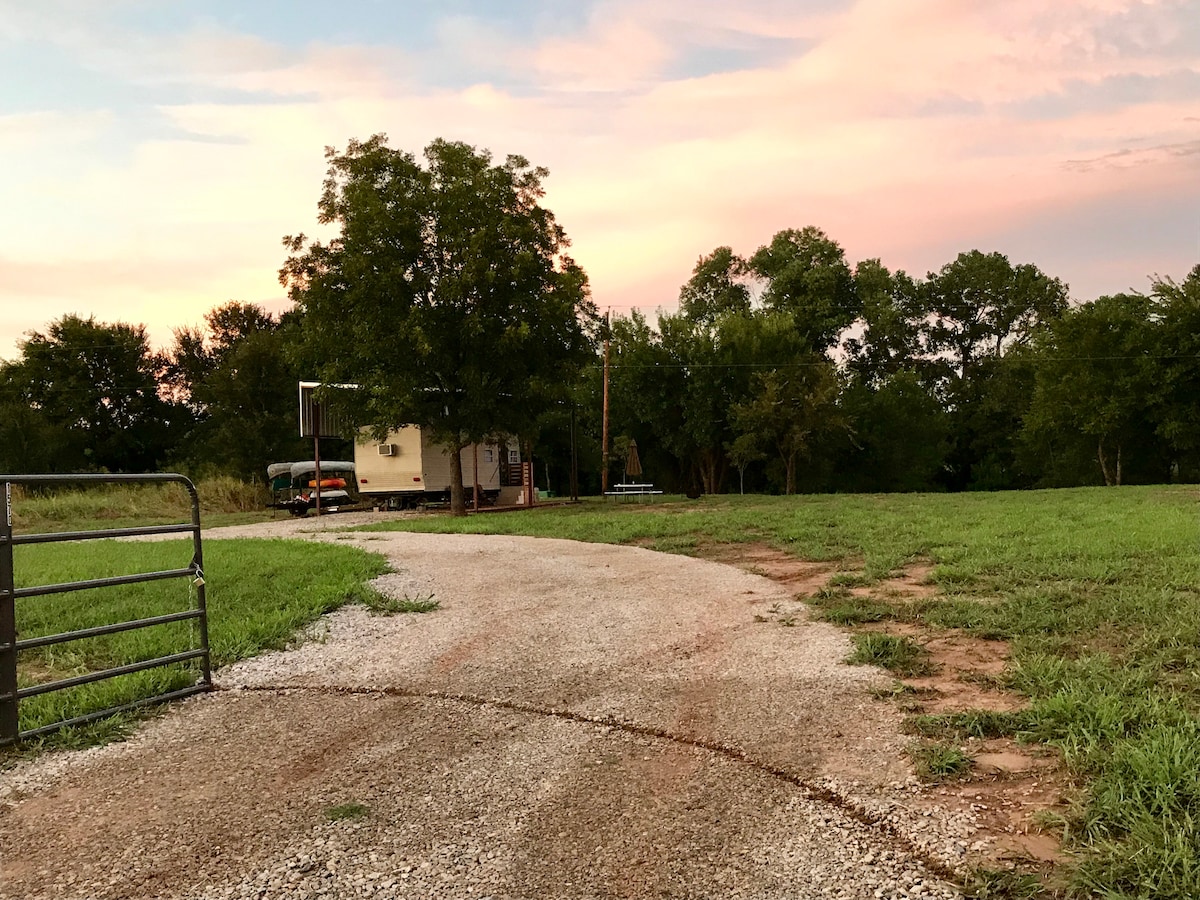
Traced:
MULTIPOLYGON (((472 502, 472 480, 479 464, 480 503, 493 505, 500 490, 512 482, 521 484, 520 457, 516 450, 503 444, 470 444, 462 451, 462 484, 467 503, 472 502)), ((450 454, 443 444, 434 444, 415 425, 388 432, 384 440, 374 440, 364 428, 354 445, 354 468, 359 493, 368 503, 389 509, 408 509, 425 503, 450 499, 450 454)))

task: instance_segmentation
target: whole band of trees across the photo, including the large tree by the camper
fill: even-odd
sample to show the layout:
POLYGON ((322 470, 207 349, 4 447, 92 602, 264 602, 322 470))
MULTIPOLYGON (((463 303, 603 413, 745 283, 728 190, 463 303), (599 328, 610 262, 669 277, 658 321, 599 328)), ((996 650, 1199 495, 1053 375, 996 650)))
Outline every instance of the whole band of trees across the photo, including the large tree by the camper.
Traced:
POLYGON ((336 236, 284 239, 292 312, 227 302, 161 350, 78 316, 30 332, 0 365, 0 470, 260 480, 311 454, 296 383, 317 379, 359 384, 352 418, 377 433, 517 436, 544 487, 574 446, 594 492, 607 359, 612 480, 634 440, 672 491, 1200 480, 1200 265, 1072 304, 1001 253, 922 278, 805 227, 703 256, 677 312, 608 319, 541 205, 545 169, 384 136, 326 158, 336 236))

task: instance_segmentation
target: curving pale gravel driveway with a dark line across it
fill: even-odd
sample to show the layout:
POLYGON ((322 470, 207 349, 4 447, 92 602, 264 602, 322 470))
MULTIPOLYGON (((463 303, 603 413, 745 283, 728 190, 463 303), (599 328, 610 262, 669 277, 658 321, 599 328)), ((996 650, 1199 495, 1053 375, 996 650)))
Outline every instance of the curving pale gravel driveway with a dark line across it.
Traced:
POLYGON ((572 541, 209 536, 304 529, 440 608, 344 608, 128 742, 0 773, 0 898, 958 895, 970 817, 922 805, 890 679, 785 588, 572 541))

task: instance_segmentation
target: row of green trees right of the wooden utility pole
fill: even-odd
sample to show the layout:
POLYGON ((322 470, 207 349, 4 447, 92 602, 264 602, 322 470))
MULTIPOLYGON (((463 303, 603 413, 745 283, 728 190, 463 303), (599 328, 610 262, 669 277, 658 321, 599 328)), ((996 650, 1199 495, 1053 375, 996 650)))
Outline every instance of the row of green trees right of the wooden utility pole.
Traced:
POLYGON ((785 230, 617 319, 610 359, 614 419, 709 492, 1200 479, 1200 266, 1073 305, 1001 253, 913 278, 785 230))

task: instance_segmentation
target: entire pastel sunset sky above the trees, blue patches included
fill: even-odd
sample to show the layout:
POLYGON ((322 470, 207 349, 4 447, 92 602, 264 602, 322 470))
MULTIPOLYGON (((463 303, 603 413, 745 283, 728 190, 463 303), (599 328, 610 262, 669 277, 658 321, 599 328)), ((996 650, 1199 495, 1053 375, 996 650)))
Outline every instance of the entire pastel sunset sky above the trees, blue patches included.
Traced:
POLYGON ((325 146, 378 132, 547 167, 614 314, 805 226, 1087 301, 1200 263, 1200 0, 0 0, 0 358, 284 308, 325 146))

